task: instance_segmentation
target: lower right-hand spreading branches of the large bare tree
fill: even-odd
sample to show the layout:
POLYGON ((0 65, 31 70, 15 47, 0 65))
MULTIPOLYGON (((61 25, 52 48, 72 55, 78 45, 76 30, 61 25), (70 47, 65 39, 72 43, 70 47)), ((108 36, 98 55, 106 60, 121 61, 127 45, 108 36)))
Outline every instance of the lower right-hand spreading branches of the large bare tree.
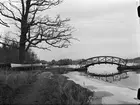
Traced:
MULTIPOLYGON (((68 20, 60 20, 60 17, 57 17, 55 20, 56 22, 59 19, 60 25, 51 25, 47 26, 48 24, 38 24, 36 29, 37 32, 34 33, 33 37, 28 37, 27 42, 28 47, 38 47, 37 45, 39 43, 45 42, 46 44, 49 45, 49 47, 57 47, 57 48, 67 48, 70 45, 70 40, 75 39, 73 38, 72 35, 72 30, 73 28, 66 25, 65 22, 68 20)), ((46 20, 49 21, 49 20, 46 20)), ((40 47, 41 48, 41 47, 40 47)), ((46 48, 46 47, 42 47, 46 48)), ((48 47, 47 47, 48 48, 48 47)))

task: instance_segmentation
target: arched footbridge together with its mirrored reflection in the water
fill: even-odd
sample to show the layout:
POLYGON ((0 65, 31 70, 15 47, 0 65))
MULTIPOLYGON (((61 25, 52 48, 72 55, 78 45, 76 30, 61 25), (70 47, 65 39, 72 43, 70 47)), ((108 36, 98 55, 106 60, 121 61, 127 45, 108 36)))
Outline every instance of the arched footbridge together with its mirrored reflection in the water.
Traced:
POLYGON ((89 75, 93 78, 96 78, 96 79, 100 79, 100 80, 103 80, 106 82, 113 82, 113 81, 118 81, 121 79, 128 78, 128 76, 127 76, 128 71, 132 71, 134 69, 140 68, 140 66, 129 66, 128 63, 129 62, 127 59, 123 59, 120 57, 96 56, 96 57, 88 58, 88 59, 85 59, 85 60, 82 60, 81 62, 79 62, 80 69, 77 69, 77 71, 85 72, 87 75, 89 75), (117 73, 109 73, 109 74, 97 74, 97 73, 88 72, 87 68, 89 66, 93 66, 96 64, 112 64, 112 65, 115 64, 115 65, 118 65, 118 67, 117 67, 118 72, 117 73))

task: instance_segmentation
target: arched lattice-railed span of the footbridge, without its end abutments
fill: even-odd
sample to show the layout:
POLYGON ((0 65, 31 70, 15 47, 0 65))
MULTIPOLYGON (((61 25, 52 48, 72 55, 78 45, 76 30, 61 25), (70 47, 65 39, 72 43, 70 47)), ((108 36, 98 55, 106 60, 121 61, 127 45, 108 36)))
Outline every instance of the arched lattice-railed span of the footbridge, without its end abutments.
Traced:
POLYGON ((127 60, 114 56, 96 56, 96 57, 85 59, 80 62, 80 66, 86 68, 95 64, 115 64, 120 67, 120 66, 127 66, 127 60))

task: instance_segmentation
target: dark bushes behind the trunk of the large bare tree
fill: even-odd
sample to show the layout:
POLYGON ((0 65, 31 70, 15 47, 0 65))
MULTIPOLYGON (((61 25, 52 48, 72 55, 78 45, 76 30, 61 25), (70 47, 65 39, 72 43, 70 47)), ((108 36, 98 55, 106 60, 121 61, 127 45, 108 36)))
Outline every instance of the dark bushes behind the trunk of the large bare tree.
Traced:
MULTIPOLYGON (((18 44, 14 40, 5 37, 4 43, 0 46, 0 63, 19 63, 18 44)), ((37 55, 29 49, 26 52, 25 63, 40 63, 37 55)))

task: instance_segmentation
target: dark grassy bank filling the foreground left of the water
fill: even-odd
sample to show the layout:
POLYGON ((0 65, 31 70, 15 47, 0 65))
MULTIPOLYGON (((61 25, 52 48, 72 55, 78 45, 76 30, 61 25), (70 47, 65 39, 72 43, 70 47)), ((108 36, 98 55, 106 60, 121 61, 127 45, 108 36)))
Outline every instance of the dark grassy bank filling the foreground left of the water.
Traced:
POLYGON ((90 104, 93 92, 60 75, 66 70, 48 71, 1 70, 0 104, 90 104))

